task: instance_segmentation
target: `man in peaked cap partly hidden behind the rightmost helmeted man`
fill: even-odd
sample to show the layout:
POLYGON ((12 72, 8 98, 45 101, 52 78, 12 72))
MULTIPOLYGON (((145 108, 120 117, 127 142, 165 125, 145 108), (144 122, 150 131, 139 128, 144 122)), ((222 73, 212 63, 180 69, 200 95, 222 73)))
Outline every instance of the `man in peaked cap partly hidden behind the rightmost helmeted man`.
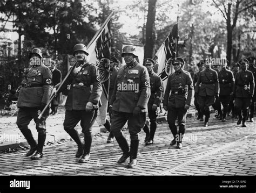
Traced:
POLYGON ((147 112, 149 113, 150 118, 150 130, 149 126, 145 124, 143 130, 146 133, 146 145, 152 145, 154 140, 154 133, 157 130, 157 108, 160 106, 160 103, 163 99, 163 81, 160 76, 153 72, 154 60, 147 58, 143 61, 143 66, 147 68, 147 72, 150 75, 150 90, 151 95, 149 103, 147 103, 147 112), (147 138, 149 137, 149 138, 147 138))

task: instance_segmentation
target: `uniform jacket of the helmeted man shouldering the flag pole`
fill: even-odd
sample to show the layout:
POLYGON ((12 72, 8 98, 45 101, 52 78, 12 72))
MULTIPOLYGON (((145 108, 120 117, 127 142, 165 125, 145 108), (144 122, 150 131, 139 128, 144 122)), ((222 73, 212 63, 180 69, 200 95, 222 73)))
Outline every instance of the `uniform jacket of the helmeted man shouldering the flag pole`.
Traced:
MULTIPOLYGON (((78 63, 76 62, 77 66, 78 63)), ((73 68, 71 68, 72 70, 73 68)), ((78 73, 73 69, 69 78, 63 83, 59 92, 68 87, 66 110, 85 110, 87 102, 97 105, 102 95, 102 84, 99 79, 99 70, 96 65, 84 62, 78 73)))

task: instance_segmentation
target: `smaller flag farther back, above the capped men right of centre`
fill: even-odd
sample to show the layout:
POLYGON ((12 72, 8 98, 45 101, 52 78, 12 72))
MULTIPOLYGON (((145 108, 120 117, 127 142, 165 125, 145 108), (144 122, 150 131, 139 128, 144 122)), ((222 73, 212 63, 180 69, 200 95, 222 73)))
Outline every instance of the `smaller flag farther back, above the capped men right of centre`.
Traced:
POLYGON ((156 73, 161 77, 164 83, 164 88, 166 88, 167 78, 173 73, 173 67, 171 65, 166 65, 166 62, 170 58, 176 57, 176 41, 178 37, 178 26, 175 24, 172 28, 172 32, 165 39, 163 44, 158 49, 153 60, 156 62, 156 73))

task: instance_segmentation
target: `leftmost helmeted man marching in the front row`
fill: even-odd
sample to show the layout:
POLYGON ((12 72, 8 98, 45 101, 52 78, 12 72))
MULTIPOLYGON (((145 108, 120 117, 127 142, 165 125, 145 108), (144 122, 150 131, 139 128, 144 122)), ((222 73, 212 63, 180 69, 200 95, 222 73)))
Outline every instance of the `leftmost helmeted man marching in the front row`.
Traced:
POLYGON ((46 138, 45 120, 49 116, 50 108, 46 109, 41 119, 37 119, 37 117, 49 102, 52 91, 52 73, 48 67, 42 64, 41 49, 33 49, 29 58, 31 67, 24 72, 25 77, 22 81, 17 102, 19 111, 16 123, 31 147, 26 156, 32 155, 31 159, 37 160, 43 156, 43 146, 46 138), (36 123, 38 144, 28 128, 32 119, 36 123), (36 153, 33 155, 35 151, 36 153))

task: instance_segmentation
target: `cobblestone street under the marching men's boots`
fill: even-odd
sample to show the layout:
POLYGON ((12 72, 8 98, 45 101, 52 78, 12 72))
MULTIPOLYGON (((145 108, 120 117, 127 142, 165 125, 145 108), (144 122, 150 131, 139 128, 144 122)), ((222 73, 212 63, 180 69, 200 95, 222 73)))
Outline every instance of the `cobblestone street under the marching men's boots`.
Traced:
MULTIPOLYGON (((140 132, 137 168, 118 165, 122 152, 114 141, 106 144, 108 133, 93 136, 91 160, 78 163, 74 141, 58 141, 44 147, 41 160, 31 161, 28 150, 0 154, 0 175, 256 175, 256 123, 247 127, 235 120, 225 124, 211 118, 210 125, 187 119, 183 148, 170 146, 173 139, 166 121, 158 124, 154 144, 144 145, 140 132)), ((129 133, 124 131, 129 139, 129 133)))

